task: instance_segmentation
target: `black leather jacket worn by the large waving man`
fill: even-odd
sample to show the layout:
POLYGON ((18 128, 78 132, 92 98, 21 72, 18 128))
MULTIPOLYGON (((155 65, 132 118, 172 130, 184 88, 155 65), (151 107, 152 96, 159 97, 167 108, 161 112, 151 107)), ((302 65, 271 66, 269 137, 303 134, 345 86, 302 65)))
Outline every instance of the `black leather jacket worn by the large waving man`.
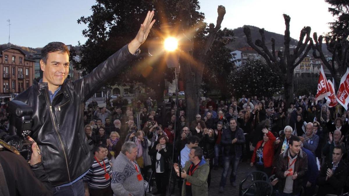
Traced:
POLYGON ((84 133, 84 103, 134 56, 126 45, 82 79, 66 79, 52 103, 46 82, 34 81, 15 98, 33 109, 32 138, 41 149, 53 187, 72 182, 92 165, 84 133))

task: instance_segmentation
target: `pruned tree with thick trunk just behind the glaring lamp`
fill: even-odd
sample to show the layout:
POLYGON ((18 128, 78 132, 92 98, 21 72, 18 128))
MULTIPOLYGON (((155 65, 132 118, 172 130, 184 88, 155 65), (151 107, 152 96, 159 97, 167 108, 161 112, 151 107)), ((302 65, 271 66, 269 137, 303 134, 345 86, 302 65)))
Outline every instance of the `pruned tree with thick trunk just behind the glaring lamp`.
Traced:
MULTIPOLYGON (((193 28, 192 13, 190 10, 190 1, 180 0, 177 3, 179 10, 179 17, 181 18, 180 30, 186 33, 193 28)), ((214 50, 211 46, 216 40, 217 33, 221 28, 221 24, 225 15, 225 7, 218 6, 218 17, 216 26, 209 24, 205 34, 198 35, 195 33, 192 36, 193 50, 184 51, 180 55, 181 74, 184 76, 185 100, 186 100, 186 114, 188 121, 194 120, 195 113, 199 112, 200 89, 202 83, 203 70, 207 60, 212 56, 214 50), (202 39, 204 36, 204 39, 202 39)), ((200 31, 198 31, 200 32, 200 31)))

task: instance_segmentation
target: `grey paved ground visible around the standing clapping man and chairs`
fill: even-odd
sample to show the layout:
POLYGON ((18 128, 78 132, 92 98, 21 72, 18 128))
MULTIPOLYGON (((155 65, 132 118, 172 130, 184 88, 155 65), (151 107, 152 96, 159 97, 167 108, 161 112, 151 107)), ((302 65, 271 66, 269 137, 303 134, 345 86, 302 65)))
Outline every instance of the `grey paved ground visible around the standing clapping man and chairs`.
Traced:
MULTIPOLYGON (((229 170, 229 174, 230 174, 229 170)), ((251 168, 250 163, 242 162, 239 164, 238 167, 238 173, 237 173, 237 187, 232 187, 229 183, 229 178, 227 179, 227 185, 224 188, 224 193, 219 193, 219 183, 221 180, 221 175, 223 172, 223 168, 219 168, 218 170, 212 170, 211 174, 211 186, 208 191, 208 195, 229 195, 229 196, 238 196, 239 195, 239 183, 246 178, 246 175, 252 171, 255 171, 255 168, 251 168)), ((244 183, 245 186, 249 184, 251 180, 246 180, 244 183)), ((172 188, 172 187, 171 187, 172 188)), ((155 190, 156 188, 154 188, 155 190)), ((152 196, 152 194, 147 194, 149 196, 152 196)), ((174 193, 171 194, 171 196, 178 196, 179 195, 179 189, 176 186, 176 189, 174 193)))

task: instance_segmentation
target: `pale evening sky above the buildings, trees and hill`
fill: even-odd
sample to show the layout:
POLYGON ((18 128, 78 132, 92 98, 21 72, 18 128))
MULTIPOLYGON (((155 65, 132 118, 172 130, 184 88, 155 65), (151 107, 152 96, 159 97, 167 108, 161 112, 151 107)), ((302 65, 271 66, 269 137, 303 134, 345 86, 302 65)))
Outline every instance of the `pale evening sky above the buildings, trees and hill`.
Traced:
MULTIPOLYGON (((222 28, 235 29, 253 25, 275 33, 284 34, 282 14, 291 17, 290 35, 299 39, 300 30, 310 26, 318 35, 329 31, 328 22, 333 16, 324 0, 199 0, 200 12, 205 13, 205 22, 216 24, 217 7, 226 10, 222 28)), ((87 38, 81 31, 87 27, 77 24, 81 16, 90 16, 95 0, 11 0, 1 2, 0 44, 8 43, 10 19, 10 43, 43 47, 49 42, 59 41, 77 45, 87 38)), ((145 14, 144 14, 145 15, 145 14)))

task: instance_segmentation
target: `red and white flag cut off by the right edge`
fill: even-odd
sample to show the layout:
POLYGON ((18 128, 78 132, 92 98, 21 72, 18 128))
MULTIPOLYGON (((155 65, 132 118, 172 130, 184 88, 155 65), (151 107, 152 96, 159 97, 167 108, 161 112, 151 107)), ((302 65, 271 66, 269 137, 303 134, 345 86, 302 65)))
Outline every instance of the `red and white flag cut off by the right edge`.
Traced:
POLYGON ((348 110, 349 103, 349 69, 341 78, 341 84, 339 85, 336 99, 346 110, 348 110))

